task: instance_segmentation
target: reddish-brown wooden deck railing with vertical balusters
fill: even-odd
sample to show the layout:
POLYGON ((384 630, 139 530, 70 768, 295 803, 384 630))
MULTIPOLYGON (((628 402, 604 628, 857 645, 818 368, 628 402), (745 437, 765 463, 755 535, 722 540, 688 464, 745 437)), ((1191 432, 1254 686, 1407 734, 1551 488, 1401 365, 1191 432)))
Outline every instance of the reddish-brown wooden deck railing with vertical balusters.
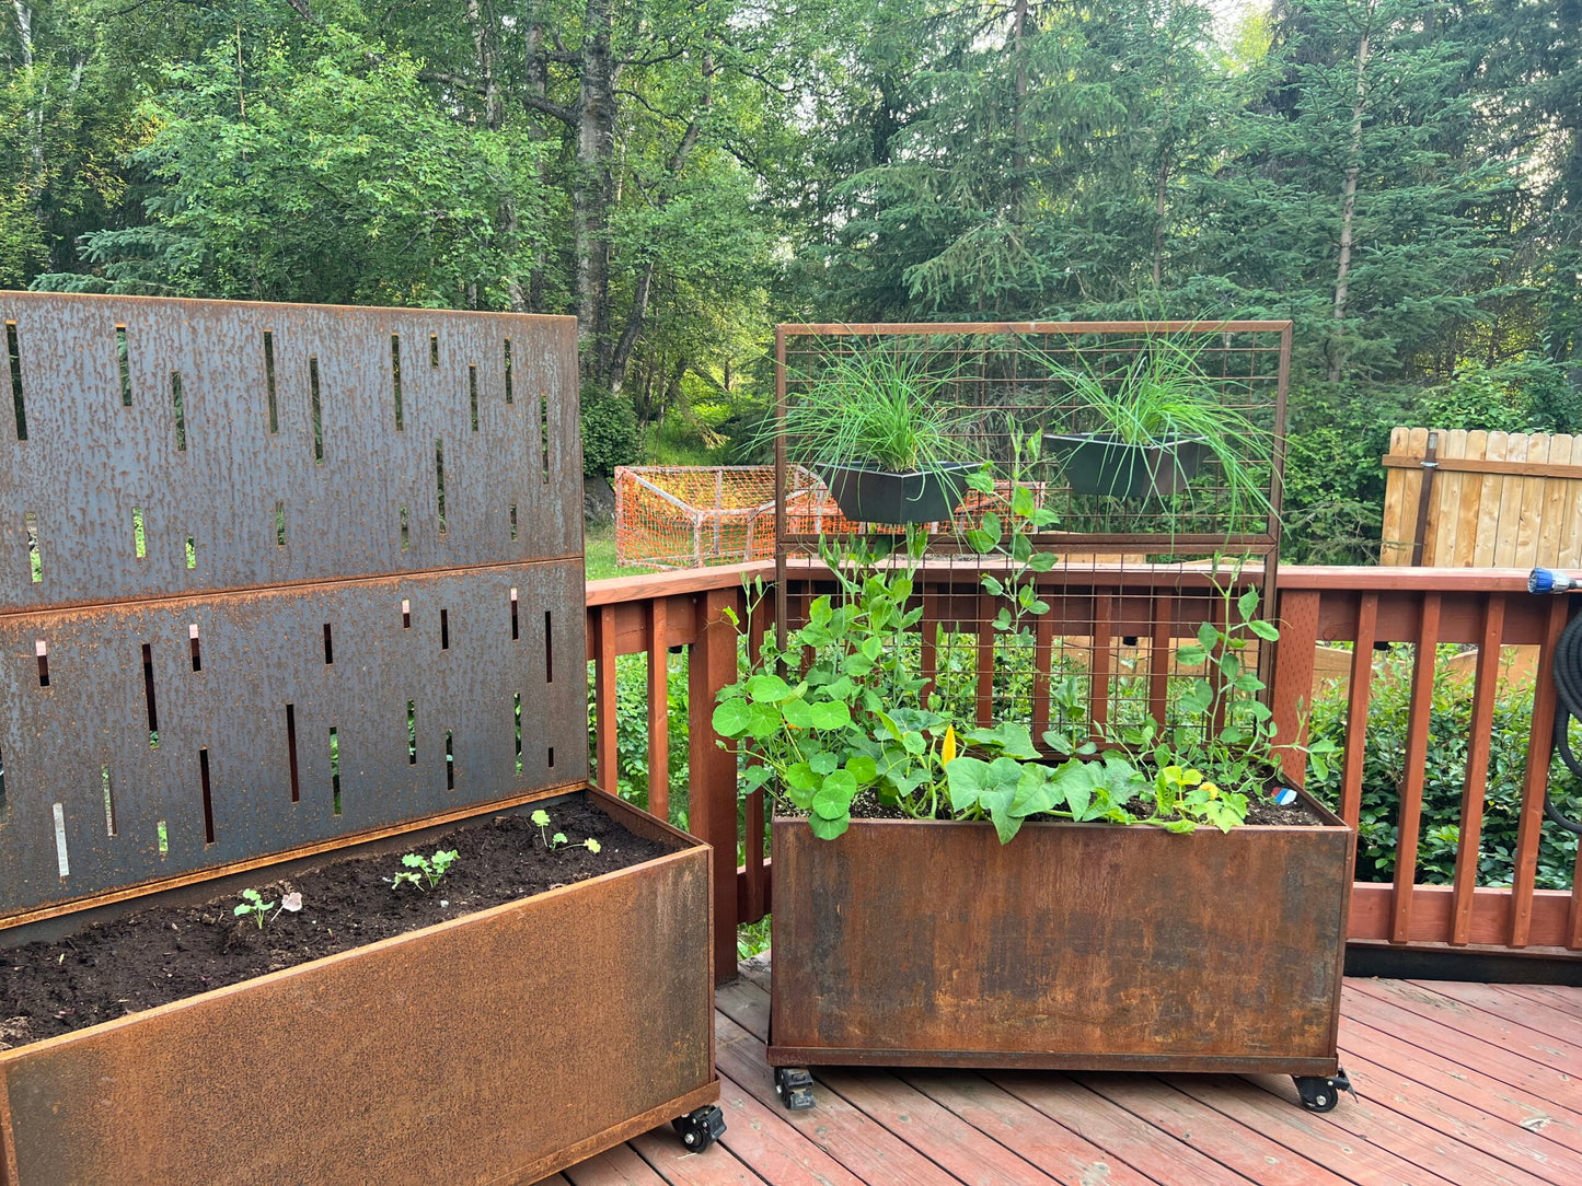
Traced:
MULTIPOLYGON (((1405 778, 1400 784, 1394 882, 1357 882, 1351 900, 1349 936, 1400 947, 1473 947, 1498 952, 1539 952, 1582 958, 1582 876, 1566 890, 1535 887, 1549 738, 1555 696, 1550 659, 1568 614, 1566 598, 1535 598, 1527 593, 1525 572, 1514 569, 1391 569, 1305 568, 1280 571, 1281 640, 1274 670, 1274 708, 1281 735, 1304 721, 1311 701, 1315 645, 1354 644, 1343 754, 1340 814, 1356 824, 1362 797, 1362 757, 1367 746, 1373 644, 1416 645, 1406 729, 1405 778), (1474 644, 1479 661, 1473 683, 1473 713, 1462 794, 1462 819, 1455 874, 1451 886, 1416 884, 1417 841, 1422 821, 1424 778, 1438 644, 1474 644), (1522 783, 1522 813, 1514 854, 1514 886, 1478 887, 1478 851, 1484 791, 1490 754, 1492 720, 1500 672, 1500 647, 1539 647, 1539 667, 1530 761, 1522 783)), ((615 789, 615 656, 649 656, 649 769, 669 762, 666 655, 688 647, 688 827, 710 843, 723 859, 715 862, 715 961, 721 979, 736 974, 736 927, 756 922, 770 908, 769 868, 763 854, 763 800, 737 803, 736 764, 715 743, 710 727, 715 693, 736 678, 736 628, 726 610, 745 612, 744 579, 774 579, 774 565, 751 563, 690 569, 661 576, 593 580, 587 587, 589 661, 595 669, 595 781, 615 789), (745 854, 740 867, 731 859, 745 854)), ((808 577, 796 577, 794 593, 805 593, 808 577)), ((960 582, 960 576, 956 576, 960 582)), ((1095 614, 1088 629, 1103 618, 1114 636, 1126 629, 1128 615, 1168 642, 1193 633, 1191 593, 1150 582, 1136 569, 1106 577, 1096 585, 1095 614), (1141 582, 1141 584, 1139 584, 1141 582), (1169 609, 1171 599, 1175 609, 1169 609), (1137 606, 1128 610, 1128 606, 1137 606), (1161 609, 1161 606, 1164 609, 1161 609), (1175 621, 1177 626, 1168 623, 1175 621), (1160 625, 1166 623, 1166 625, 1160 625)), ((951 599, 959 590, 930 590, 924 582, 925 625, 951 621, 951 599)), ((772 601, 772 599, 769 599, 772 601)), ((796 598, 793 598, 796 606, 796 598)), ((967 617, 960 625, 965 628, 967 617)), ((758 615, 753 631, 767 628, 758 615)), ((1044 625, 1041 623, 1041 629, 1044 625)), ((1055 629, 1049 625, 1047 629, 1055 629)), ((1098 642, 1098 640, 1096 640, 1098 642)), ((1041 648, 1046 652, 1047 648, 1041 648)), ((927 661, 927 655, 925 655, 927 661)), ((1163 694, 1163 693, 1161 693, 1163 694)), ((1035 701, 1036 685, 1035 685, 1035 701)), ((1047 708, 1046 708, 1047 712, 1047 708)), ((1035 715, 1038 705, 1035 704, 1035 715)), ((1288 776, 1304 772, 1292 762, 1288 776)), ((669 806, 664 780, 650 789, 650 810, 669 806)), ((1550 825, 1552 827, 1552 825, 1550 825)))

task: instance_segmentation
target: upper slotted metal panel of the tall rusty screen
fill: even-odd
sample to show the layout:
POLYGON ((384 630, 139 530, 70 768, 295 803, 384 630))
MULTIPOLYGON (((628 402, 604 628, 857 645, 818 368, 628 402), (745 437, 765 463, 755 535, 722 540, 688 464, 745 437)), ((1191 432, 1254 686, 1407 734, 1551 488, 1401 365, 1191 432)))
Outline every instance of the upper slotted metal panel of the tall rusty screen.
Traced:
POLYGON ((571 318, 43 293, 0 313, 0 606, 582 550, 571 318))

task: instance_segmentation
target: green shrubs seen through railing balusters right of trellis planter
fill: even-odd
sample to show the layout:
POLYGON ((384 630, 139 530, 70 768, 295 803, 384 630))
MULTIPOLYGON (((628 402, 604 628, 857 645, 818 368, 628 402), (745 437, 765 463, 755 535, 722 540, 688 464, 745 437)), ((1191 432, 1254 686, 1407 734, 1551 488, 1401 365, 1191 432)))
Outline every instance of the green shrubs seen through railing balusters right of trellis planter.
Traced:
MULTIPOLYGON (((1443 656, 1449 655, 1444 648, 1443 656)), ((1357 825, 1357 879, 1391 881, 1395 871, 1395 838, 1400 786, 1406 776, 1406 726, 1411 708, 1408 647, 1395 647, 1375 677, 1368 704, 1368 743, 1362 756, 1362 811, 1357 825)), ((1467 784, 1467 738, 1471 726, 1471 682, 1457 680, 1440 663, 1435 667, 1429 716, 1429 751, 1424 764, 1422 825, 1417 844, 1419 882, 1449 884, 1455 870, 1460 835, 1462 788, 1467 784)), ((1509 886, 1522 811, 1522 780, 1527 770, 1528 734, 1533 718, 1531 683, 1501 685, 1493 705, 1489 780, 1478 846, 1478 884, 1509 886)), ((1346 693, 1340 686, 1316 696, 1308 729, 1332 746, 1345 742, 1346 693)), ((1582 818, 1582 784, 1558 761, 1549 767, 1555 805, 1569 818, 1582 818)), ((1340 770, 1313 769, 1308 789, 1337 806, 1340 770)), ((1538 887, 1571 889, 1577 838, 1546 825, 1539 832, 1538 887)))

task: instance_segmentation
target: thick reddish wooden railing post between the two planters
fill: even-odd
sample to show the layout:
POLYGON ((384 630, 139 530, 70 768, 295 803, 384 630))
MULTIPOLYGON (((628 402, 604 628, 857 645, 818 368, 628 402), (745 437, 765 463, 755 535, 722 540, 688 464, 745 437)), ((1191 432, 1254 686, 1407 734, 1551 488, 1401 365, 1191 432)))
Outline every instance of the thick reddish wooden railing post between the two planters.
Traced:
POLYGON ((713 702, 736 680, 736 626, 726 609, 742 612, 739 588, 698 595, 698 640, 687 664, 691 742, 690 832, 713 846, 713 968, 723 984, 736 976, 736 754, 713 731, 713 702))

